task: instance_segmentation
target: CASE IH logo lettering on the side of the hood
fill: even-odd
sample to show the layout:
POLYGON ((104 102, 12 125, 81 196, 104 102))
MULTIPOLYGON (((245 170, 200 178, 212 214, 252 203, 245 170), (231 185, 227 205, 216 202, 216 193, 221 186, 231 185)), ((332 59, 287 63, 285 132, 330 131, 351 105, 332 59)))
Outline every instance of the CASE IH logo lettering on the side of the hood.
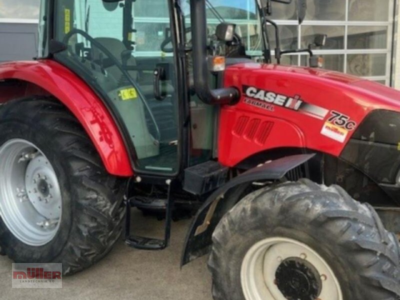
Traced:
POLYGON ((278 105, 292 110, 298 110, 301 104, 304 102, 300 99, 299 95, 289 97, 286 95, 274 93, 273 91, 259 89, 254 86, 243 85, 243 93, 247 97, 260 101, 265 101, 269 104, 278 105))

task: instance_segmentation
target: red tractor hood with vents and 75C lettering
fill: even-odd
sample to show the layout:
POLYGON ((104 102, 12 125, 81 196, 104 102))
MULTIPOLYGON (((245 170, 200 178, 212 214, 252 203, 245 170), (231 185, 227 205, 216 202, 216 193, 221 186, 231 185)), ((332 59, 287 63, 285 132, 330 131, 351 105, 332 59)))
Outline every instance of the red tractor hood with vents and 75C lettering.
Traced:
POLYGON ((226 69, 224 84, 241 92, 237 104, 221 109, 218 155, 225 165, 278 147, 339 156, 372 111, 400 121, 399 91, 339 72, 242 63, 226 69))

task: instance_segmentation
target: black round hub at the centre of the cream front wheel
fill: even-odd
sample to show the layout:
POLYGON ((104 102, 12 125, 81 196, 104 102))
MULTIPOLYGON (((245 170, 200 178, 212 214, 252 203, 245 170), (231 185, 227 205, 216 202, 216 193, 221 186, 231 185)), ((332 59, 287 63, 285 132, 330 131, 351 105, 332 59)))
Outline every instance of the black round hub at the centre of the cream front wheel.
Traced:
POLYGON ((317 269, 297 257, 282 261, 276 270, 275 282, 288 300, 316 299, 322 285, 317 269))

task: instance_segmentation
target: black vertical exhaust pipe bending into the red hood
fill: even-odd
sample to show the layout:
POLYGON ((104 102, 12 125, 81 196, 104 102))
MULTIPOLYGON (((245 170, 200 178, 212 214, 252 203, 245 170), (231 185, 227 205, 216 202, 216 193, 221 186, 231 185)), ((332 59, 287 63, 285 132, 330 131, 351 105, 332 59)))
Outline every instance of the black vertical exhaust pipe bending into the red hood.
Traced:
POLYGON ((235 87, 211 89, 208 84, 207 18, 205 0, 190 0, 191 32, 193 44, 194 90, 206 104, 235 104, 240 92, 235 87))

